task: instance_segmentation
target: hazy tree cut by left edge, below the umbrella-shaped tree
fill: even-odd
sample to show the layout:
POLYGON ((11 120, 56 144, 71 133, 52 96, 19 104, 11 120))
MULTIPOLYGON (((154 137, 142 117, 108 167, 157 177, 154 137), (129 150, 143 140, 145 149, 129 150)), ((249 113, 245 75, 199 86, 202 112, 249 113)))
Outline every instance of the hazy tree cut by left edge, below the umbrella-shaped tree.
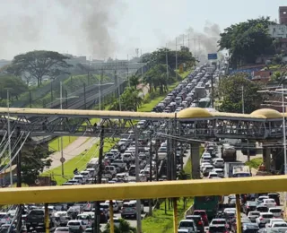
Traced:
POLYGON ((7 99, 7 89, 9 89, 10 98, 18 99, 24 91, 28 91, 28 86, 21 78, 13 75, 0 75, 0 97, 7 99))

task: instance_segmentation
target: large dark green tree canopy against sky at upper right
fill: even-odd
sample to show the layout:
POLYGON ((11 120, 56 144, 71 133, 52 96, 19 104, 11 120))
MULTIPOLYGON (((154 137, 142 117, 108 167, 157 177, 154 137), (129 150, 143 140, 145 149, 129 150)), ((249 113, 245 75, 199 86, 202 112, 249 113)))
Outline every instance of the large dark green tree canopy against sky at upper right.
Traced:
POLYGON ((269 17, 232 24, 221 33, 219 50, 229 50, 230 65, 235 68, 255 63, 257 56, 273 55, 274 41, 268 34, 272 24, 269 17))

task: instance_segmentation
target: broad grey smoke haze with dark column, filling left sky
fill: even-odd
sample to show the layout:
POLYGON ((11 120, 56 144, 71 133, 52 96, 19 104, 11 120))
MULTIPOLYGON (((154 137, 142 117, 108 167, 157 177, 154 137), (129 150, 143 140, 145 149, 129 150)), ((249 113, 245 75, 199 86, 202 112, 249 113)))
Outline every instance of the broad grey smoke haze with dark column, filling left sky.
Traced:
MULTIPOLYGON (((0 0, 0 57, 34 49, 72 47, 77 54, 102 58, 112 54, 117 39, 117 0, 0 0)), ((72 53, 73 53, 72 52, 72 53)))

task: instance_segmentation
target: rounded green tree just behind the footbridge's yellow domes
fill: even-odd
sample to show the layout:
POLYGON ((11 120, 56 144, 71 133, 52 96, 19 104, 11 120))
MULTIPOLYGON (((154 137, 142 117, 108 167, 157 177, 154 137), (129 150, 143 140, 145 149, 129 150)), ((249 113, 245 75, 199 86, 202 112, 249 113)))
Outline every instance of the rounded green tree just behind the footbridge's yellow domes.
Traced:
POLYGON ((248 73, 237 73, 223 77, 213 96, 221 99, 219 110, 222 112, 242 113, 242 87, 244 112, 249 114, 260 108, 266 94, 258 93, 261 86, 248 80, 248 73))

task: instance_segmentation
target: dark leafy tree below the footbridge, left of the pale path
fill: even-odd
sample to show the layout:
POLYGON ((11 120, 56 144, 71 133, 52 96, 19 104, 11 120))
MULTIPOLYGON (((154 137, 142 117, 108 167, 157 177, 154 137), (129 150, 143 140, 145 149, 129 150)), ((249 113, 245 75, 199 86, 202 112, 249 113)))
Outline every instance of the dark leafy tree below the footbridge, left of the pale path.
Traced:
POLYGON ((22 150, 22 182, 27 185, 35 184, 35 180, 44 168, 50 167, 52 160, 48 157, 48 150, 40 146, 22 150))

